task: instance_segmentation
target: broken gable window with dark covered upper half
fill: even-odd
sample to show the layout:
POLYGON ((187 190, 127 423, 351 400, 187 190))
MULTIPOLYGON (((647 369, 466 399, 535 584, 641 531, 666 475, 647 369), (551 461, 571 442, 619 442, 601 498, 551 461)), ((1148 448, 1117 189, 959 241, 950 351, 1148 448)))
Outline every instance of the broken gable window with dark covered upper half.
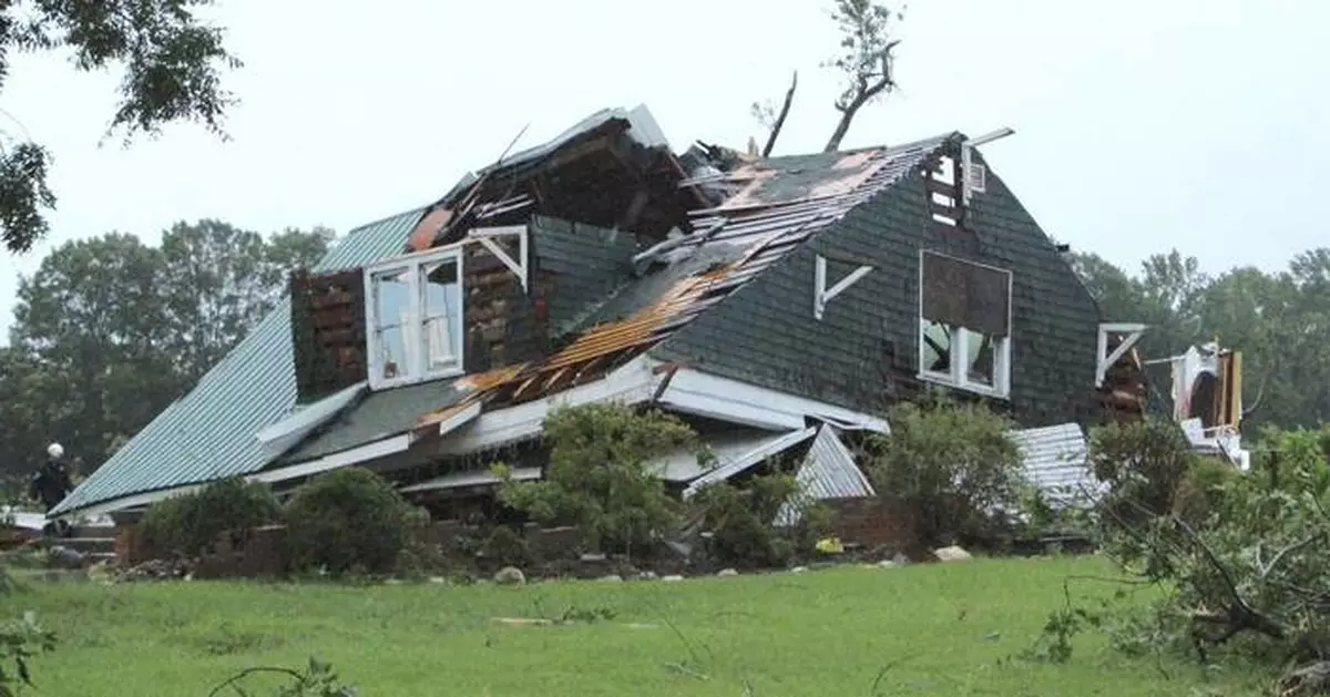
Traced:
POLYGON ((1011 271, 920 251, 919 314, 920 376, 1008 394, 1011 271))

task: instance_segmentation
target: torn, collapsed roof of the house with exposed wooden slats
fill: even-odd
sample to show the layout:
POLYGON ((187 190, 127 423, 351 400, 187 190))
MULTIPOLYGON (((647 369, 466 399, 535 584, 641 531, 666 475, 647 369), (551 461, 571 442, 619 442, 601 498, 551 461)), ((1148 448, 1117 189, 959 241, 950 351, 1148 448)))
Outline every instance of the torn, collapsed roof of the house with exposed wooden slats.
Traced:
POLYGON ((455 380, 368 398, 351 390, 336 398, 335 408, 321 407, 303 432, 309 439, 283 455, 257 434, 293 412, 314 414, 314 406, 297 410, 287 298, 53 513, 140 505, 162 492, 257 475, 386 435, 438 432, 460 415, 473 419, 595 382, 665 346, 708 309, 962 138, 948 133, 900 146, 770 160, 700 144, 676 157, 645 108, 598 112, 541 146, 463 178, 432 205, 352 230, 315 267, 352 269, 537 213, 633 230, 637 243, 621 251, 624 282, 568 329, 561 347, 455 380), (332 416, 372 423, 319 432, 332 416))

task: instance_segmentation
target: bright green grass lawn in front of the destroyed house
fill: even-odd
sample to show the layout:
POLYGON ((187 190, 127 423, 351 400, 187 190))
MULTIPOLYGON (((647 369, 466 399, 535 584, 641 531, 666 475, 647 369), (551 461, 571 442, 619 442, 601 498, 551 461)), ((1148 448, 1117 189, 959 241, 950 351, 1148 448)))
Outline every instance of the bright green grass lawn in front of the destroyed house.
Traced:
POLYGON ((1104 572, 1080 557, 527 587, 35 584, 5 605, 36 609, 59 633, 35 677, 40 694, 61 697, 206 696, 237 669, 301 666, 311 654, 359 694, 391 697, 1178 697, 1257 694, 1266 684, 1250 672, 1132 662, 1095 636, 1077 637, 1064 665, 1003 660, 1039 634, 1063 579, 1104 572), (569 607, 616 616, 495 621, 569 607))

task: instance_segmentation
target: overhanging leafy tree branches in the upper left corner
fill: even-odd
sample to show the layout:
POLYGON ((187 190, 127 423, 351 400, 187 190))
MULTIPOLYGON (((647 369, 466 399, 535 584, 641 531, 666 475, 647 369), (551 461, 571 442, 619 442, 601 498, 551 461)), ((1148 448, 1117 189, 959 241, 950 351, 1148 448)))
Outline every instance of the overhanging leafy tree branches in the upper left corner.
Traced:
MULTIPOLYGON (((173 121, 197 121, 226 137, 222 118, 234 97, 221 73, 241 63, 222 47, 222 31, 196 12, 211 0, 31 0, 0 4, 0 85, 15 53, 68 49, 77 70, 122 65, 120 104, 106 136, 157 136, 173 121)), ((45 237, 56 206, 47 185, 51 153, 9 138, 0 152, 0 239, 25 253, 45 237)))

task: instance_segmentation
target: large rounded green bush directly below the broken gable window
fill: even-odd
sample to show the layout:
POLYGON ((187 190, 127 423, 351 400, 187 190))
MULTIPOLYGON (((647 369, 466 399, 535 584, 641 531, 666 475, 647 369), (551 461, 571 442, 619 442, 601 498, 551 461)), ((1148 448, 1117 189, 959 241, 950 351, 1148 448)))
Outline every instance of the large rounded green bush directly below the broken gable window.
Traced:
POLYGON ((866 470, 887 505, 915 516, 920 541, 990 536, 1000 525, 990 511, 1019 504, 1020 450, 1005 418, 932 395, 892 407, 887 422, 890 435, 864 443, 866 470))

